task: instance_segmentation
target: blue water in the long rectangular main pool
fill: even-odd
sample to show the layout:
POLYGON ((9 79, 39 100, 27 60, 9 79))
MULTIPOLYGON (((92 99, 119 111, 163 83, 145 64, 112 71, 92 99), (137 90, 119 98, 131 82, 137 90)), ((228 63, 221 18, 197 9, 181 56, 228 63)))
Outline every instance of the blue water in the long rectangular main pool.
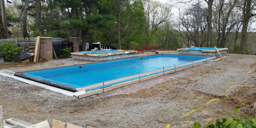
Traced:
POLYGON ((164 67, 170 67, 208 57, 181 55, 154 55, 126 60, 116 60, 68 68, 56 68, 43 71, 23 73, 27 76, 46 81, 65 84, 71 87, 83 87, 121 77, 132 76, 164 67))

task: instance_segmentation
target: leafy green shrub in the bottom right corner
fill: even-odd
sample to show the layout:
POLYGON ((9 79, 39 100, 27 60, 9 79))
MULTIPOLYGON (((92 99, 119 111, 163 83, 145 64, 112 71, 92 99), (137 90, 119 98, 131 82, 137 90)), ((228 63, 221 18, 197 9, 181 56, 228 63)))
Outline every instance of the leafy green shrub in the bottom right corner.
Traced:
MULTIPOLYGON (((246 118, 236 115, 240 111, 240 108, 236 108, 235 116, 221 119, 216 119, 215 124, 207 124, 204 128, 256 128, 256 116, 249 117, 246 113, 246 118)), ((202 128, 199 122, 195 122, 192 128, 202 128)))

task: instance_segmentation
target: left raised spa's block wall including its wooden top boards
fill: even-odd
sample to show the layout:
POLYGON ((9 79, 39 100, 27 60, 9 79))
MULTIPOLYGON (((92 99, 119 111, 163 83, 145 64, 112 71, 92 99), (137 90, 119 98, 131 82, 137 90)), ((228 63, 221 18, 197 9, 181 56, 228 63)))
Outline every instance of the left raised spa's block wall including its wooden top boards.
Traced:
POLYGON ((134 58, 137 51, 129 51, 129 53, 116 52, 112 55, 106 54, 82 54, 82 53, 71 53, 73 59, 77 60, 90 60, 90 61, 111 61, 120 60, 124 58, 134 58))

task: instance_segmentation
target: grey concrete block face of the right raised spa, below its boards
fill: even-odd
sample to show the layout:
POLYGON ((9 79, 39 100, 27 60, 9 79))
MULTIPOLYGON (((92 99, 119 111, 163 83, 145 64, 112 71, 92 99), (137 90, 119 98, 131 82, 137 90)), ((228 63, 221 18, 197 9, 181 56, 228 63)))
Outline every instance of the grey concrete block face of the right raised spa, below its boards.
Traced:
MULTIPOLYGON (((227 55, 227 50, 219 51, 221 56, 227 55)), ((193 55, 193 56, 216 56, 220 57, 218 52, 202 52, 201 50, 178 51, 178 54, 193 55)))

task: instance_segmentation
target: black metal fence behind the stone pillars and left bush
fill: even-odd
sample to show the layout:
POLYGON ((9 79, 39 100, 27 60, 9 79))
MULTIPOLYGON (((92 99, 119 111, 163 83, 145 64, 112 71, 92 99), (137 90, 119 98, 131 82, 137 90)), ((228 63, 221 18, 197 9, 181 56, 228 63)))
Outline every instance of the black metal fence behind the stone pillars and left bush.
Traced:
MULTIPOLYGON (((15 55, 15 57, 18 57, 22 53, 23 48, 25 46, 35 46, 35 45, 36 44, 34 44, 34 43, 33 44, 17 44, 16 46, 21 47, 22 49, 20 50, 20 52, 17 55, 15 55)), ((63 48, 66 48, 66 47, 72 47, 72 46, 73 46, 73 44, 70 43, 69 41, 52 42, 52 47, 53 47, 54 52, 55 52, 57 57, 60 57, 61 54, 62 54, 60 49, 63 49, 63 48)), ((1 53, 1 51, 2 51, 2 49, 0 49, 0 53, 1 53)), ((72 48, 72 52, 73 52, 73 48, 72 48)), ((4 57, 4 55, 2 55, 2 56, 4 57)), ((53 58, 54 58, 54 56, 53 56, 53 58)))

